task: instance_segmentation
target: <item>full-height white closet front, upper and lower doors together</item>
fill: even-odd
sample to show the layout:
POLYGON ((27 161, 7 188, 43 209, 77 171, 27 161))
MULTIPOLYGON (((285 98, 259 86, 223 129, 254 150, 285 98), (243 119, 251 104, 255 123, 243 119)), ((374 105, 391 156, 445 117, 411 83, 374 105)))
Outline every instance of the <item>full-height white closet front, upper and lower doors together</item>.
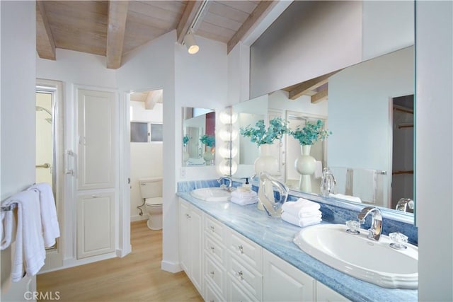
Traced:
POLYGON ((77 259, 115 250, 116 95, 77 89, 77 259))

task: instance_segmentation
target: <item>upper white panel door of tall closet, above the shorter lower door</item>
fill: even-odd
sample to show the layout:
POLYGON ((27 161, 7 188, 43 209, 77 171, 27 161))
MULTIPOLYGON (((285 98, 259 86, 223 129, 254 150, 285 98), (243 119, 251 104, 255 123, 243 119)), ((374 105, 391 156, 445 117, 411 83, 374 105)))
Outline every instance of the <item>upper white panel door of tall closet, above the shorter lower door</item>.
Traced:
POLYGON ((115 93, 78 89, 77 190, 115 187, 115 93))

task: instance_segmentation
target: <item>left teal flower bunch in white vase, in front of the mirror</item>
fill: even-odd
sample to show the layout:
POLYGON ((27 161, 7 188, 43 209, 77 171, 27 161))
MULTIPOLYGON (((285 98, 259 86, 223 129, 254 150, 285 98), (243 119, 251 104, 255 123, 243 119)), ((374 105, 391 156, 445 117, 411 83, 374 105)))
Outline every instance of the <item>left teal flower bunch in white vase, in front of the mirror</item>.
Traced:
POLYGON ((239 133, 243 137, 250 137, 251 142, 258 144, 273 144, 275 139, 281 140, 284 134, 289 132, 288 122, 281 117, 275 117, 269 121, 268 129, 265 129, 264 120, 258 120, 255 127, 248 125, 241 127, 239 133))

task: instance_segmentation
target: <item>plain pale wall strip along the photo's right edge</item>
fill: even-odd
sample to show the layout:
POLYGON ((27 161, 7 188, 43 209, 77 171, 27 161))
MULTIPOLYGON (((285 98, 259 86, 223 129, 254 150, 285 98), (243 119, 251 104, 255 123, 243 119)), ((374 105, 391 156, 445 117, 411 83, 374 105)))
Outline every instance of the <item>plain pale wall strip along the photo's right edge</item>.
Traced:
POLYGON ((415 9, 418 300, 453 301, 453 2, 415 9))

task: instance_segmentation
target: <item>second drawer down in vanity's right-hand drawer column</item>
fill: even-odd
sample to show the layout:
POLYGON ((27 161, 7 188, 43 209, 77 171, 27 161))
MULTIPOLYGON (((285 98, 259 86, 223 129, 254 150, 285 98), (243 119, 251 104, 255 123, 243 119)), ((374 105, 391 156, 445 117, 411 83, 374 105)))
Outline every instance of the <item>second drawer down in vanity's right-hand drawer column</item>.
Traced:
POLYGON ((240 284, 248 294, 263 300, 263 275, 255 269, 249 269, 236 257, 230 257, 228 263, 228 275, 232 282, 240 284))

